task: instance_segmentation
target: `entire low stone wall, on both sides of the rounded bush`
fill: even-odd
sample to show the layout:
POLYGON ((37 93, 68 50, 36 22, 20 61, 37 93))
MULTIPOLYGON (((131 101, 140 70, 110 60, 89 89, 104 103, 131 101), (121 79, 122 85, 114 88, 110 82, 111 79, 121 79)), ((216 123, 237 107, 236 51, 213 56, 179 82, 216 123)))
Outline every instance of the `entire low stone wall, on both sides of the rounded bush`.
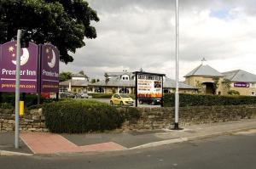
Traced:
MULTIPOLYGON (((125 109, 125 108, 124 108, 125 109)), ((122 130, 152 130, 170 127, 174 122, 174 108, 137 108, 140 119, 125 121, 122 130)), ((256 119, 256 104, 225 106, 191 106, 179 109, 179 124, 185 127, 193 124, 222 121, 239 121, 256 119)), ((15 130, 15 110, 0 109, 0 132, 15 130)), ((45 128, 42 109, 26 110, 20 117, 20 130, 32 132, 48 132, 45 128)))

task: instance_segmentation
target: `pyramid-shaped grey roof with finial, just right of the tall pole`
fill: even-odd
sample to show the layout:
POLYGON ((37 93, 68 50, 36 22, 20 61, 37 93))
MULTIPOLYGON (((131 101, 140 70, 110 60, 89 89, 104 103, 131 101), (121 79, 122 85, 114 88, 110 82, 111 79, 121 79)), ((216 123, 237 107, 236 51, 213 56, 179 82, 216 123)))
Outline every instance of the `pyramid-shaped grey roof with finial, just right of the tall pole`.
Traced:
POLYGON ((209 65, 199 65, 194 70, 190 71, 186 76, 224 76, 218 70, 213 69, 209 65))

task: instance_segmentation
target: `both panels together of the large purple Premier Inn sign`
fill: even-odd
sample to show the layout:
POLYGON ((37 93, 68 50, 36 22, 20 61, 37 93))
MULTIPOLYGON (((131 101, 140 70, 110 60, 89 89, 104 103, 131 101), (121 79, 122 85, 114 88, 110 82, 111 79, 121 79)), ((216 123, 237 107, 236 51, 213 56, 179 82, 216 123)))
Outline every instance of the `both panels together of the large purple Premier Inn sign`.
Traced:
MULTIPOLYGON (((29 47, 22 48, 20 52, 20 93, 38 93, 38 91, 57 93, 59 85, 59 51, 57 48, 51 44, 37 45, 29 42, 29 47), (43 51, 44 49, 46 51, 43 51), (47 86, 44 90, 42 90, 43 84, 47 86)), ((0 92, 15 92, 15 59, 15 41, 0 45, 0 92)))

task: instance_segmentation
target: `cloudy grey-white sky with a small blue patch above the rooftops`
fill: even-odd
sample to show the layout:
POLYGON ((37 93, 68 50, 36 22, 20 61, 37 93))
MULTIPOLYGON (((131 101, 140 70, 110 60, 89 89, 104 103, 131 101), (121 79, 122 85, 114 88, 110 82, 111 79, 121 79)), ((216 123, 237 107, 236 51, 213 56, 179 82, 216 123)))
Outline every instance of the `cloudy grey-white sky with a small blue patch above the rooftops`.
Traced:
MULTIPOLYGON (((96 39, 61 71, 103 78, 106 71, 145 71, 175 78, 175 0, 89 0, 100 18, 96 39)), ((256 74, 255 0, 179 0, 180 81, 207 59, 223 72, 256 74)))

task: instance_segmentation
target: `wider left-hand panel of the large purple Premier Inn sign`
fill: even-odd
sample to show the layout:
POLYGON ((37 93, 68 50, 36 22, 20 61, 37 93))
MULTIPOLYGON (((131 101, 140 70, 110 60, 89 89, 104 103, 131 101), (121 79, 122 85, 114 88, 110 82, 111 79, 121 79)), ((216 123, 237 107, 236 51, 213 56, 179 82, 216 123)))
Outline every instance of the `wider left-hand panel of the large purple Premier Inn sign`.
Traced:
MULTIPOLYGON (((0 50, 0 92, 15 92, 16 42, 6 42, 0 50)), ((37 93, 38 45, 29 42, 21 49, 20 93, 37 93)))

